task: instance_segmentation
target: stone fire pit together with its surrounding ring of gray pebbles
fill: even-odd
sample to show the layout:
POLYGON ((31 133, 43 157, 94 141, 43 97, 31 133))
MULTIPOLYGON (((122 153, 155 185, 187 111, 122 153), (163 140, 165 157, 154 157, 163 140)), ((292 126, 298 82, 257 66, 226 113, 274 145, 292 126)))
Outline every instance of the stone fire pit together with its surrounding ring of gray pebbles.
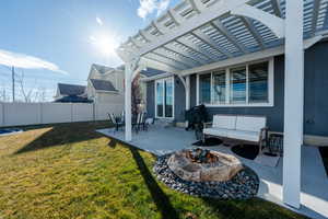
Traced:
POLYGON ((197 197, 248 199, 259 187, 257 174, 238 159, 202 149, 161 155, 153 171, 166 186, 197 197))

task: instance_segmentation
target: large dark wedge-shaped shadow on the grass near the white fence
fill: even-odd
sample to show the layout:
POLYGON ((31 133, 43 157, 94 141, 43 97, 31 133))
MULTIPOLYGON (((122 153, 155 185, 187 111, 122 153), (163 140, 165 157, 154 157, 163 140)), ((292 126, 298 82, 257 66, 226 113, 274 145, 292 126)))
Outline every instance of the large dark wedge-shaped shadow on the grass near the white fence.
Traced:
POLYGON ((95 129, 108 127, 110 125, 104 122, 54 125, 51 129, 22 147, 14 154, 101 138, 103 136, 96 132, 95 129))

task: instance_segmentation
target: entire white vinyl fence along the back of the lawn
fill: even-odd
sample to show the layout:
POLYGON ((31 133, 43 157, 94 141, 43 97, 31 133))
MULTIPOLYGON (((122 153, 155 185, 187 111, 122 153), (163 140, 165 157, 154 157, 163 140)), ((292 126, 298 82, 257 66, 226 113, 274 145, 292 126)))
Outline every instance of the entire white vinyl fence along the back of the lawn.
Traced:
POLYGON ((122 110, 122 104, 0 103, 0 127, 105 120, 122 110))

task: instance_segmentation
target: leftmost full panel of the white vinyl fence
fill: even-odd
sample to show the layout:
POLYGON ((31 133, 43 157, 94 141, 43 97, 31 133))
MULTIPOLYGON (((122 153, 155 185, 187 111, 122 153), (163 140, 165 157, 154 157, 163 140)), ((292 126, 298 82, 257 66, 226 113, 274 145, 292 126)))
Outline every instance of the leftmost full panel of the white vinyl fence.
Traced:
POLYGON ((4 126, 26 126, 40 124, 40 104, 38 103, 5 103, 4 126))

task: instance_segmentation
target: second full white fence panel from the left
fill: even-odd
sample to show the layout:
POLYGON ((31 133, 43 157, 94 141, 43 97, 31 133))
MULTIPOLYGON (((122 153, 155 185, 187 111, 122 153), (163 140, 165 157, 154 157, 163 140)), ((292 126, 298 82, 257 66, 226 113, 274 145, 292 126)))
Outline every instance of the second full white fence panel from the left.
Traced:
POLYGON ((72 104, 70 103, 43 103, 42 108, 43 124, 72 122, 72 104))

